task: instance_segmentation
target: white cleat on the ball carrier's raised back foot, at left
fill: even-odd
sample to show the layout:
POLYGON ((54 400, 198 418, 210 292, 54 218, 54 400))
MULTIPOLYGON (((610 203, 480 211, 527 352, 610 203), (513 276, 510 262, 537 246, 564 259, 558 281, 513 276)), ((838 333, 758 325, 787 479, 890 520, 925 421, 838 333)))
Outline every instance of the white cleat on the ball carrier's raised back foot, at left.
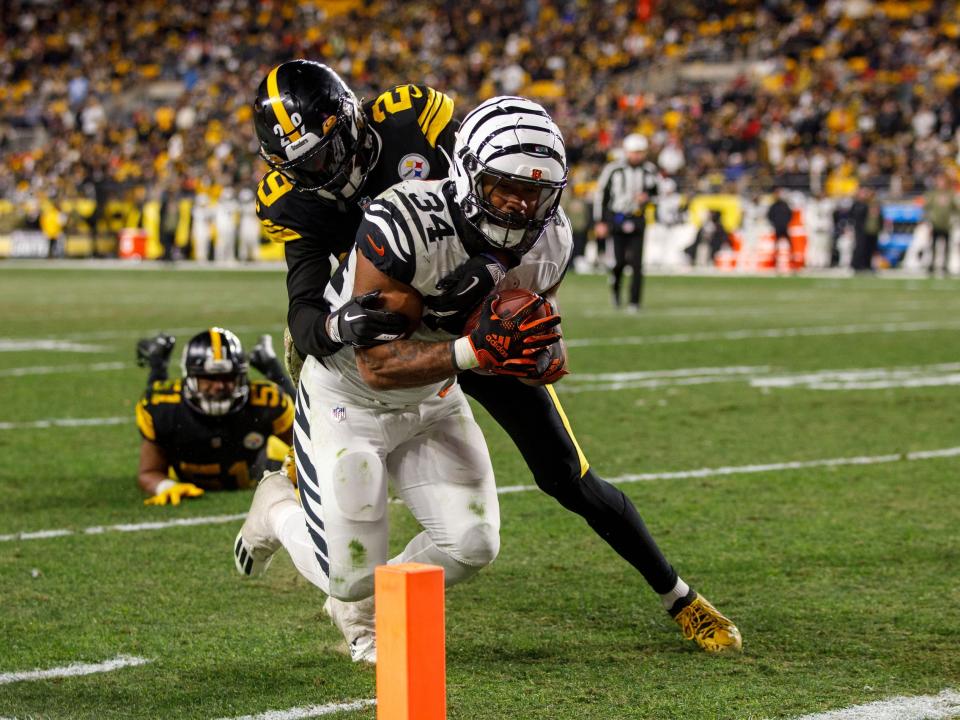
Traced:
POLYGON ((288 500, 297 502, 297 494, 285 472, 267 473, 261 478, 247 519, 233 543, 233 561, 241 575, 259 577, 270 566, 280 549, 280 540, 270 525, 270 511, 288 500))

